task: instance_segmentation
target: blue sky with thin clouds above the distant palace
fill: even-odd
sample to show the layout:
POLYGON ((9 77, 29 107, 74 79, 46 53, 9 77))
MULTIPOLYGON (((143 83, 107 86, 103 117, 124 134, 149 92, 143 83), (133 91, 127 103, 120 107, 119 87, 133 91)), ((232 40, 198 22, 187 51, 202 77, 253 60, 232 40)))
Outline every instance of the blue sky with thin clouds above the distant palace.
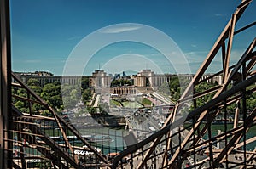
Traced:
MULTIPOLYGON (((98 47, 93 54, 88 48, 105 41, 104 37, 93 37, 99 30, 122 39, 124 33, 132 33, 141 25, 150 26, 172 39, 177 48, 171 48, 173 54, 182 53, 188 60, 192 73, 199 68, 218 35, 230 20, 231 14, 241 1, 237 0, 10 0, 12 69, 14 71, 47 70, 55 75, 62 75, 67 60, 83 48, 79 57, 89 61, 82 63, 85 75, 96 69, 105 69, 108 73, 122 70, 152 69, 158 73, 174 73, 183 65, 166 64, 166 59, 159 48, 142 42, 113 42, 98 47), (135 23, 136 26, 122 25, 135 23), (107 27, 116 25, 115 27, 107 27), (109 31, 109 29, 112 29, 109 31), (102 38, 102 39, 101 39, 102 38), (88 42, 83 43, 85 40, 88 42), (180 49, 180 51, 178 50, 180 49)), ((236 29, 255 21, 256 5, 251 3, 238 22, 236 29)), ((231 60, 235 62, 247 48, 256 34, 256 26, 244 36, 234 41, 231 60)), ((100 35, 100 34, 99 34, 100 35)), ((140 37, 141 35, 137 35, 140 37)), ((146 41, 158 38, 158 34, 143 37, 146 41), (149 38, 150 37, 150 38, 149 38)), ((105 37, 108 38, 108 37, 105 37)), ((158 39, 159 40, 159 39, 158 39)), ((150 42, 149 42, 150 43, 150 42)), ((169 44, 163 42, 163 48, 169 44)), ((177 54, 177 58, 178 58, 177 54)), ((221 67, 219 59, 208 72, 215 72, 221 67)), ((68 69, 78 68, 72 63, 68 69)), ((67 67, 67 66, 66 66, 67 67)), ((79 67, 80 69, 80 67, 79 67)), ((67 74, 75 74, 71 71, 67 74)), ((189 73, 189 72, 188 72, 189 73)))

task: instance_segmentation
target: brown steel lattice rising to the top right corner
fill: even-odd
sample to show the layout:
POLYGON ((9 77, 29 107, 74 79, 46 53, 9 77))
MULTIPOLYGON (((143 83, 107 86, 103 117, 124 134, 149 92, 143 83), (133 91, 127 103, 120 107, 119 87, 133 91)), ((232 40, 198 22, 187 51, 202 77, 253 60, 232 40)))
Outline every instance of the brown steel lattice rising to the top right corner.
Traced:
MULTIPOLYGON (((236 8, 235 13, 232 14, 229 23, 225 26, 224 31, 218 37, 217 42, 213 45, 207 58, 202 63, 200 69, 197 71, 193 80, 189 83, 189 86, 175 106, 174 112, 166 120, 165 126, 162 129, 166 132, 157 132, 154 136, 142 143, 131 146, 130 149, 126 149, 123 155, 119 155, 119 157, 115 159, 113 168, 123 167, 122 162, 120 161, 123 156, 129 154, 134 154, 137 159, 141 159, 137 162, 138 165, 136 168, 148 168, 148 164, 154 168, 182 168, 184 167, 183 162, 188 161, 187 159, 189 157, 194 160, 194 164, 191 164, 190 167, 218 168, 219 166, 225 166, 226 168, 229 168, 237 166, 253 167, 253 165, 255 165, 255 159, 253 161, 255 151, 249 152, 246 150, 247 143, 249 143, 249 141, 255 142, 256 140, 255 137, 250 138, 250 140, 246 138, 249 128, 255 125, 255 109, 247 110, 246 104, 248 93, 255 92, 255 86, 248 89, 249 86, 255 84, 256 79, 255 70, 252 70, 252 67, 256 63, 255 39, 253 39, 253 42, 251 42, 236 65, 230 66, 233 38, 236 34, 255 25, 255 22, 253 22, 235 31, 236 22, 240 19, 241 14, 243 14, 251 2, 252 1, 250 0, 242 1, 236 8), (216 75, 223 75, 223 84, 207 89, 201 93, 195 93, 193 88, 204 82, 200 81, 201 76, 211 65, 212 60, 217 57, 216 55, 218 51, 221 51, 222 53, 223 70, 216 75), (196 99, 201 99, 209 93, 214 94, 212 100, 201 107, 196 107, 196 99), (183 122, 183 120, 180 119, 180 121, 177 122, 175 120, 175 115, 177 115, 179 109, 188 101, 195 103, 195 110, 190 112, 185 119, 185 121, 192 121, 192 125, 185 128, 178 127, 178 123, 183 122), (226 122, 227 107, 234 103, 237 104, 236 118, 233 121, 234 128, 228 131, 226 122), (237 116, 239 111, 242 114, 242 124, 238 126, 237 116), (213 136, 211 129, 212 121, 220 113, 224 113, 225 131, 224 134, 213 136), (177 127, 178 132, 173 132, 171 130, 175 127, 177 127), (186 134, 182 138, 183 132, 186 134), (176 143, 177 145, 175 145, 175 141, 173 141, 176 136, 178 137, 179 142, 178 144, 176 143), (202 139, 204 136, 207 136, 206 140, 202 139), (213 144, 218 144, 221 141, 224 141, 224 148, 218 150, 213 149, 213 144), (166 149, 161 152, 157 149, 157 146, 163 143, 166 143, 166 149), (241 146, 243 150, 238 151, 241 146), (207 151, 207 157, 203 161, 196 161, 198 158, 195 154, 202 150, 207 151), (136 151, 139 153, 135 153, 136 151), (155 155, 156 152, 157 155, 155 155), (242 155, 242 158, 244 159, 242 163, 239 164, 237 161, 229 161, 229 155, 233 154, 234 156, 234 152, 240 152, 237 155, 242 155), (249 158, 247 158, 247 156, 249 156, 249 158), (161 166, 155 164, 154 161, 156 157, 163 158, 161 166)), ((135 158, 131 158, 131 161, 135 161, 135 158)))

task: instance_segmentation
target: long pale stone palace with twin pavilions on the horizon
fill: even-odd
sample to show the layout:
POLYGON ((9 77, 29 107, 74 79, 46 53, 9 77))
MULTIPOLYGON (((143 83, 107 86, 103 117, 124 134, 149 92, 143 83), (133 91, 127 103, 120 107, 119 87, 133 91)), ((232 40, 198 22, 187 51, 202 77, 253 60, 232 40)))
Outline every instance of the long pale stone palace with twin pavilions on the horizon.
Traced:
MULTIPOLYGON (((31 78, 38 79, 38 82, 42 87, 47 83, 53 82, 75 85, 81 81, 81 78, 89 78, 90 87, 110 87, 113 78, 116 78, 117 76, 120 78, 120 74, 109 76, 104 70, 95 70, 95 72, 92 73, 92 76, 54 76, 52 73, 46 71, 15 72, 15 74, 19 75, 23 82, 27 82, 31 78)), ((125 77, 125 79, 130 79, 130 76, 125 76, 124 72, 122 75, 122 78, 125 77)), ((173 76, 182 77, 191 81, 194 75, 155 74, 153 70, 141 70, 137 75, 131 76, 130 80, 133 81, 134 87, 152 87, 157 89, 164 82, 170 82, 173 76)), ((207 82, 218 82, 218 84, 222 84, 222 75, 212 77, 212 74, 206 74, 201 77, 201 80, 204 79, 207 79, 207 82)), ((129 88, 129 93, 130 91, 131 88, 129 88)))

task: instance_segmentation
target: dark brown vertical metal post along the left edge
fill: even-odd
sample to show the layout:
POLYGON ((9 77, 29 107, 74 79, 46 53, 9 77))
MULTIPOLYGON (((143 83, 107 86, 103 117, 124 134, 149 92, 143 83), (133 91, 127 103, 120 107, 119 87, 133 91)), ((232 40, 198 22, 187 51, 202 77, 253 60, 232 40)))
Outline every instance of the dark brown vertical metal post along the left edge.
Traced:
POLYGON ((0 84, 0 168, 12 167, 12 143, 4 141, 12 137, 9 129, 12 128, 9 119, 11 118, 11 49, 10 49, 10 23, 9 23, 9 1, 0 1, 1 21, 1 84, 0 84))

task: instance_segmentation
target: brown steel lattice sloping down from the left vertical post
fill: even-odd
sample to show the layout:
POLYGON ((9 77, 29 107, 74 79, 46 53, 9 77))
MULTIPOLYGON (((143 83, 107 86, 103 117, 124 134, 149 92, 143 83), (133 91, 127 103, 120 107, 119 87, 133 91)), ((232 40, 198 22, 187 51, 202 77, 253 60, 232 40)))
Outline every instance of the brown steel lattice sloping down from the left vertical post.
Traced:
MULTIPOLYGON (((14 105, 12 106, 13 119, 11 122, 14 124, 13 132, 20 133, 20 136, 18 136, 18 138, 20 137, 19 138, 20 140, 22 138, 22 139, 25 139, 28 142, 28 144, 35 145, 36 147, 35 149, 37 149, 38 152, 43 154, 49 160, 54 159, 55 158, 54 156, 57 155, 60 157, 60 159, 61 158, 63 159, 62 161, 64 160, 67 161, 66 164, 61 162, 61 160, 54 161, 55 166, 58 166, 60 168, 61 167, 69 168, 70 166, 73 166, 74 168, 82 168, 82 166, 79 165, 77 155, 74 154, 74 151, 73 151, 74 146, 70 144, 67 138, 67 133, 72 134, 72 136, 77 138, 76 141, 80 141, 82 142, 83 145, 87 146, 86 150, 93 152, 96 155, 96 158, 99 159, 98 162, 100 161, 102 162, 102 164, 85 164, 84 166, 86 165, 109 166, 108 161, 105 159, 105 157, 103 157, 99 152, 97 152, 97 150, 90 145, 90 143, 88 142, 88 140, 86 140, 86 138, 83 138, 81 136, 79 131, 75 127, 73 127, 73 125, 69 124, 68 121, 63 120, 60 115, 57 115, 55 113, 55 110, 53 110, 47 103, 44 102, 43 99, 41 99, 36 93, 34 93, 29 87, 27 87, 27 85, 24 82, 22 82, 19 76, 16 76, 14 73, 12 73, 12 77, 13 77, 12 86, 21 87, 25 89, 28 96, 27 98, 24 98, 24 97, 19 97, 17 95, 13 95, 13 99, 19 99, 19 100, 24 100, 28 102, 29 110, 30 110, 28 114, 24 114, 24 113, 21 113, 20 110, 16 109, 14 105), (49 111, 51 117, 49 118, 49 117, 45 117, 44 115, 35 115, 32 112, 32 104, 41 104, 42 106, 44 106, 44 109, 49 111), (35 123, 35 121, 37 120, 55 121, 56 123, 55 125, 61 130, 59 134, 64 139, 64 143, 63 143, 65 145, 64 148, 61 147, 59 143, 56 143, 55 140, 50 138, 49 135, 44 133, 44 131, 42 131, 42 129, 37 126, 37 123, 35 123), (31 132, 22 132, 22 129, 24 128, 29 129, 34 134, 32 134, 31 132), (69 132, 67 132, 67 130, 69 132), (38 140, 35 139, 35 137, 39 137, 40 141, 38 142, 38 140), (40 144, 46 144, 47 146, 38 147, 38 145, 40 144), (68 163, 70 164, 70 166, 67 165, 68 163)), ((15 140, 12 140, 12 141, 15 142, 15 140)), ((21 148, 20 149, 20 152, 21 152, 22 146, 20 146, 20 148, 21 148)), ((20 159, 21 159, 22 166, 25 166, 24 157, 23 157, 23 160, 22 160, 22 156, 20 159)))

